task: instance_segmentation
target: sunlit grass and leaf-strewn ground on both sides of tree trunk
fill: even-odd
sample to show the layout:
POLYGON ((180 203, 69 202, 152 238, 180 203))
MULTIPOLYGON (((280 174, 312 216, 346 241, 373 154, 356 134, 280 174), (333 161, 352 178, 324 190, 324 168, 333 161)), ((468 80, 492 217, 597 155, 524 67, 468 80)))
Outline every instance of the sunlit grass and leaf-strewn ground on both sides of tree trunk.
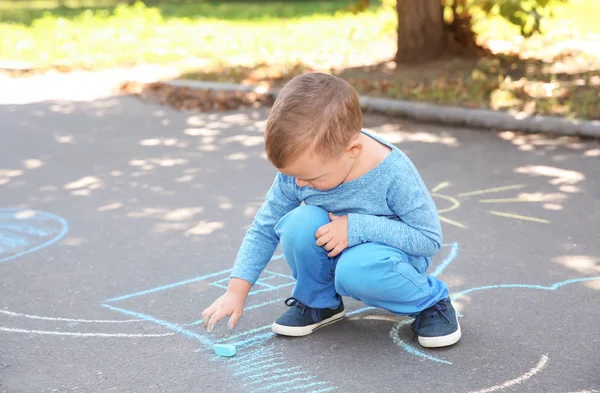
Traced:
MULTIPOLYGON (((522 53, 535 57, 565 38, 600 34, 597 1, 558 6, 543 21, 545 35, 524 43, 515 39, 517 28, 501 18, 479 16, 475 29, 483 42, 517 42, 522 53)), ((42 68, 194 60, 202 65, 185 76, 254 83, 281 83, 310 66, 346 69, 342 76, 355 78, 353 84, 364 94, 600 119, 600 78, 594 71, 600 68, 600 55, 573 52, 566 55, 569 59, 550 63, 498 56, 491 64, 486 58, 454 71, 443 64, 432 73, 420 67, 412 73, 374 67, 352 76, 352 66, 389 60, 395 28, 395 11, 377 1, 355 15, 349 0, 148 0, 132 6, 115 0, 0 0, 0 59, 42 68)))

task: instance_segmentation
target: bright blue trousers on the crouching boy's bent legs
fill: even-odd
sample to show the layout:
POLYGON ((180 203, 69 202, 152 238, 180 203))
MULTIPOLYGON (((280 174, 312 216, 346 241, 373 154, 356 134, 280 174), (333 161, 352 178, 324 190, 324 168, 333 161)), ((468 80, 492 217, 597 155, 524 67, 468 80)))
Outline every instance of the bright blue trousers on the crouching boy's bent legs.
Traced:
POLYGON ((275 227, 296 281, 293 295, 313 308, 337 307, 340 296, 399 315, 414 316, 448 297, 448 288, 426 276, 424 257, 393 247, 364 243, 330 258, 316 244, 315 232, 330 222, 327 212, 311 205, 285 215, 275 227))

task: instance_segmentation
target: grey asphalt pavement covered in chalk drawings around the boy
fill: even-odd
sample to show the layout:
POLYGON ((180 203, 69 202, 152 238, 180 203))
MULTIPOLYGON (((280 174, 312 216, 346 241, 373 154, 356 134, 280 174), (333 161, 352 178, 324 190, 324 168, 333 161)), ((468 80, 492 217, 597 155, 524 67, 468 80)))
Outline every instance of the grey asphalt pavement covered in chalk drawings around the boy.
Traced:
POLYGON ((409 318, 350 300, 344 322, 274 337, 293 285, 278 252, 239 326, 204 331, 275 174, 265 109, 2 102, 0 392, 600 391, 597 142, 365 117, 443 221, 430 274, 463 338, 429 350, 409 318))

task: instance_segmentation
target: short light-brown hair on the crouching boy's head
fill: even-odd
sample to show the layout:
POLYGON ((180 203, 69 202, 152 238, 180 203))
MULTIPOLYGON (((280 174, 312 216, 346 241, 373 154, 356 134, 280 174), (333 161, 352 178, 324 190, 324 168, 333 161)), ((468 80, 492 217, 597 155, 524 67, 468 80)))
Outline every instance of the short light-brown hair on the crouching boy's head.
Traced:
POLYGON ((267 120, 265 152, 284 168, 306 149, 323 158, 342 154, 360 133, 362 112, 354 88, 323 73, 295 77, 281 89, 267 120))

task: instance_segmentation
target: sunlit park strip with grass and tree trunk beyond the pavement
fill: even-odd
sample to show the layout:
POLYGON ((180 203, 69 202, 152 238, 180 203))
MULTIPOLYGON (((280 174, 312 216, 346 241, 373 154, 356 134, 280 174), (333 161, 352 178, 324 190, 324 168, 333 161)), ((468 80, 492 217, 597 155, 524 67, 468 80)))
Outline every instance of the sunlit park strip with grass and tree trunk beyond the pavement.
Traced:
POLYGON ((320 70, 365 95, 600 119, 596 0, 439 3, 1 0, 0 68, 268 86, 320 70))

